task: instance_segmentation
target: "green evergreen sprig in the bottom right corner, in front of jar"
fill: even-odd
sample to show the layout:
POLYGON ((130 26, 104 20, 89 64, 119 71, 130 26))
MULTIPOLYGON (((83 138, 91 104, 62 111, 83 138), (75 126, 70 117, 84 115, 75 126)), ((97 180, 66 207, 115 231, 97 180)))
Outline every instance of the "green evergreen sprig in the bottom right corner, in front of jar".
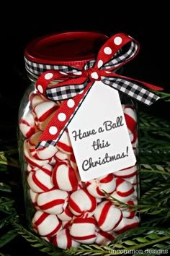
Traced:
MULTIPOLYGON (((117 236, 108 245, 82 244, 77 248, 66 249, 71 255, 148 255, 148 252, 154 251, 153 255, 158 254, 158 250, 164 248, 164 252, 170 249, 170 230, 169 229, 149 229, 142 227, 131 229, 124 234, 117 236), (135 236, 134 236, 135 234, 135 236), (163 242, 163 244, 161 244, 163 242)), ((163 252, 163 249, 162 249, 163 252)))

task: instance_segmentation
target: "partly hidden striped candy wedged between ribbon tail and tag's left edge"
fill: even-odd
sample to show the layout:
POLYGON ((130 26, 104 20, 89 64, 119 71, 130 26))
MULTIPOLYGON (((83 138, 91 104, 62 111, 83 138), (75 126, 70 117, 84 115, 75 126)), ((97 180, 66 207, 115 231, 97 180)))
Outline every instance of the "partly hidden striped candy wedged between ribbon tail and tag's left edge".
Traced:
POLYGON ((61 150, 63 153, 67 153, 67 154, 73 153, 70 136, 68 134, 67 129, 63 132, 63 135, 61 136, 60 140, 58 140, 56 147, 59 150, 61 150))

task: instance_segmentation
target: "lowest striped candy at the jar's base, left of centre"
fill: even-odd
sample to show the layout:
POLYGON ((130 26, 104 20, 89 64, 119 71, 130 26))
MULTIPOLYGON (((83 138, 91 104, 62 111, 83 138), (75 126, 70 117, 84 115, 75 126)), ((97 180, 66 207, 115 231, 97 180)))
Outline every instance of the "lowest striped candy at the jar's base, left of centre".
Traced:
POLYGON ((51 242, 61 249, 68 249, 70 247, 79 247, 80 245, 79 242, 76 242, 71 238, 71 235, 68 229, 61 229, 58 232, 58 234, 55 234, 55 236, 53 236, 53 239, 51 242))

